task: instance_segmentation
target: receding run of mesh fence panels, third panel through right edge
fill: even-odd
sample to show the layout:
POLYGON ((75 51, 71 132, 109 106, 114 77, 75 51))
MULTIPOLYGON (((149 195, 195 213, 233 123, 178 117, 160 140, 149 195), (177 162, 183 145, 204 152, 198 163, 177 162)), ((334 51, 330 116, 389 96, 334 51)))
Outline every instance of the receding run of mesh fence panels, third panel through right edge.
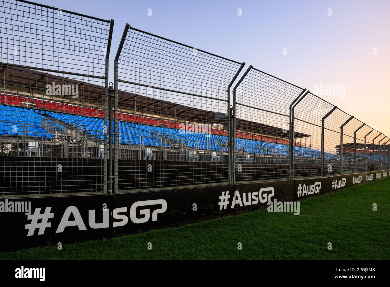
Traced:
POLYGON ((307 89, 250 66, 233 93, 236 182, 389 168, 389 138, 307 89))

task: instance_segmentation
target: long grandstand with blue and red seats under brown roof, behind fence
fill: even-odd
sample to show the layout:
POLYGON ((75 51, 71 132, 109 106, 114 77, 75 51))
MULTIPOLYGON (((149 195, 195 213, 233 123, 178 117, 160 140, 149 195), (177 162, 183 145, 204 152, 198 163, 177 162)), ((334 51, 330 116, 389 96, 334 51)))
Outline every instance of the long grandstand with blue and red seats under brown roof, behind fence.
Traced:
MULTIPOLYGON (((108 141, 106 114, 103 106, 99 105, 104 87, 83 83, 89 86, 88 96, 83 95, 83 104, 86 102, 89 106, 80 105, 77 99, 71 97, 51 96, 50 99, 45 99, 44 93, 39 91, 44 90, 46 81, 35 81, 35 92, 26 87, 12 93, 14 85, 23 87, 26 76, 48 78, 49 82, 78 82, 9 64, 3 64, 2 67, 3 73, 7 69, 7 73, 14 69, 19 73, 9 81, 7 93, 0 94, 1 156, 16 156, 18 161, 23 157, 23 161, 30 160, 30 157, 46 157, 50 161, 58 161, 55 158, 94 159, 94 164, 96 160, 105 158, 104 141, 108 141)), ((117 112, 118 172, 119 178, 123 178, 118 185, 119 190, 150 188, 151 180, 155 186, 167 188, 200 184, 204 181, 204 175, 191 171, 198 171, 203 167, 215 170, 218 174, 214 181, 208 181, 207 184, 228 180, 228 131, 224 124, 226 115, 125 91, 118 93, 122 102, 126 102, 126 105, 122 103, 117 112), (205 125, 199 125, 202 122, 210 124, 211 129, 207 130, 205 125), (156 165, 160 167, 158 176, 153 179, 143 171, 142 161, 149 160, 156 161, 156 165), (167 170, 168 166, 170 168, 167 170), (174 174, 177 179, 172 178, 174 174)), ((235 162, 245 163, 247 167, 237 175, 237 181, 288 178, 289 131, 282 132, 282 128, 239 118, 235 119, 235 123, 239 127, 235 131, 235 162)), ((107 126, 110 126, 110 120, 107 120, 107 126)), ((318 176, 321 172, 321 151, 300 142, 300 139, 308 137, 310 135, 294 132, 294 172, 301 177, 318 176)), ((344 154, 349 155, 343 159, 346 167, 354 165, 353 147, 353 143, 343 144, 344 154)), ((386 151, 374 155, 375 146, 367 144, 365 155, 363 148, 361 144, 357 146, 356 156, 359 159, 366 157, 369 162, 388 164, 386 151)), ((108 154, 106 156, 109 158, 108 154)), ((334 152, 324 152, 324 160, 326 165, 333 165, 329 175, 339 173, 340 145, 335 146, 334 152)), ((33 169, 35 167, 32 166, 33 169)), ((358 164, 357 169, 365 170, 363 161, 358 164)), ((373 170, 373 166, 368 165, 367 170, 373 170)), ((96 178, 96 175, 87 174, 82 181, 93 185, 92 178, 96 178)), ((55 179, 49 176, 45 181, 53 183, 55 179)), ((10 189, 15 185, 16 182, 12 180, 4 183, 10 189)), ((102 185, 102 181, 97 183, 99 187, 102 185)), ((78 192, 74 184, 69 184, 69 188, 67 192, 78 192)), ((50 188, 46 186, 44 191, 50 191, 50 188)), ((41 190, 34 185, 32 192, 41 193, 41 190)))

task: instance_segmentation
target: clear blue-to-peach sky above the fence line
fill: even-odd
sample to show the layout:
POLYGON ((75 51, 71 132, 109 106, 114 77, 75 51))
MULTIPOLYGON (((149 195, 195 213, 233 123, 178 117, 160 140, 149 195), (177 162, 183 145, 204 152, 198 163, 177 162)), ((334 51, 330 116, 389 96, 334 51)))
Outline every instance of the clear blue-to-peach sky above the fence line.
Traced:
POLYGON ((390 136, 389 0, 35 1, 114 19, 111 77, 119 40, 129 23, 252 64, 310 91, 321 83, 342 85, 345 94, 319 96, 390 136), (149 8, 152 16, 147 15, 149 8))

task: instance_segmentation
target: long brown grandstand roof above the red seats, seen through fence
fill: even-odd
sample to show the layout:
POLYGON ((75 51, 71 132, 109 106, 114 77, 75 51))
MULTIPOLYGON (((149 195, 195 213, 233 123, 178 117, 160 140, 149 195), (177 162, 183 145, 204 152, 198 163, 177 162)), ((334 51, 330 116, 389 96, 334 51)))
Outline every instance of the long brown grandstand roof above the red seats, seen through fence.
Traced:
MULTIPOLYGON (((82 89, 80 91, 79 99, 74 100, 71 97, 66 96, 67 101, 73 101, 74 104, 80 104, 80 101, 82 101, 82 104, 102 104, 104 101, 105 87, 72 78, 57 76, 50 74, 49 72, 49 70, 37 71, 18 65, 0 63, 0 74, 5 74, 5 77, 1 76, 5 83, 5 85, 2 85, 2 87, 5 87, 7 90, 16 90, 18 92, 26 93, 31 92, 34 93, 34 96, 37 94, 44 95, 46 90, 45 86, 48 83, 51 84, 54 81, 56 84, 60 85, 77 84, 79 88, 82 89)), ((87 78, 83 77, 83 75, 73 75, 75 77, 87 78)), ((218 123, 215 121, 215 112, 202 110, 199 108, 192 108, 190 106, 180 105, 161 99, 153 99, 151 97, 133 94, 122 90, 119 90, 118 94, 118 106, 129 110, 129 112, 142 114, 142 111, 147 108, 149 115, 154 113, 155 115, 170 118, 173 117, 177 121, 191 119, 196 120, 197 122, 218 123)), ((240 126, 240 128, 242 128, 244 131, 247 127, 248 131, 253 132, 255 130, 257 133, 262 135, 278 136, 286 139, 289 138, 288 130, 283 132, 282 128, 277 128, 266 124, 236 118, 236 125, 240 126)), ((294 132, 294 138, 303 138, 308 136, 310 135, 294 132)))

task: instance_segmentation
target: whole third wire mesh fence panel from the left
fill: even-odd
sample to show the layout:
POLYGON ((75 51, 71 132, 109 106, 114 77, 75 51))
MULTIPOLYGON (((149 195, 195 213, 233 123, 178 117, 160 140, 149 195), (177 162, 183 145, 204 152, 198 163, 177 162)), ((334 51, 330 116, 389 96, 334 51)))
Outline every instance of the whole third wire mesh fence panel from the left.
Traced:
POLYGON ((241 78, 234 89, 236 182, 290 177, 289 106, 302 92, 252 67, 241 78))

